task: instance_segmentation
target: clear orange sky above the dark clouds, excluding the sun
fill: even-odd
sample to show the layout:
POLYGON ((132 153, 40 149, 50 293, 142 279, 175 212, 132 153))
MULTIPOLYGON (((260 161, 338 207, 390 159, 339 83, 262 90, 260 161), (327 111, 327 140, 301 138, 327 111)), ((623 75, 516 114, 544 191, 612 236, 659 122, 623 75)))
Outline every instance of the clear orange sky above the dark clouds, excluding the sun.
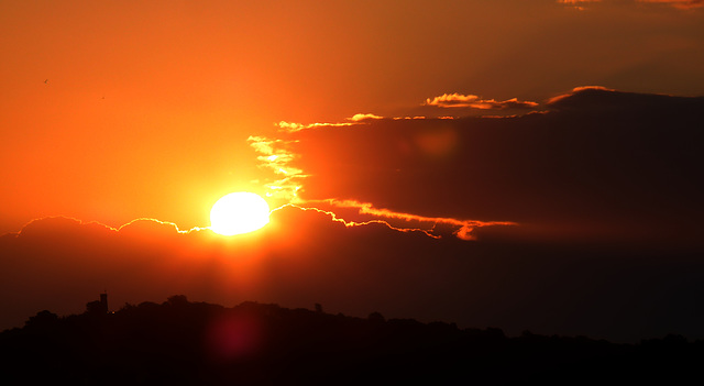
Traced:
POLYGON ((581 5, 2 2, 0 232, 43 216, 208 225, 220 196, 264 192, 246 140, 282 120, 408 115, 453 92, 704 93, 704 10, 581 5))

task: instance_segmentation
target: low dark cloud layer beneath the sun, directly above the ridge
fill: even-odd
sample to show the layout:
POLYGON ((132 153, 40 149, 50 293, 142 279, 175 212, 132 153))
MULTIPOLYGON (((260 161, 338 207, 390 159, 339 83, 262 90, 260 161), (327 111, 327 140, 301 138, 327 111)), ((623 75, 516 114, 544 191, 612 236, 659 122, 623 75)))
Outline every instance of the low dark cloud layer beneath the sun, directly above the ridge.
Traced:
POLYGON ((461 328, 498 327, 510 335, 703 338, 704 320, 691 307, 704 294, 703 263, 671 250, 659 253, 647 246, 436 240, 383 223, 349 227, 295 206, 274 211, 262 230, 232 238, 182 233, 153 221, 116 231, 41 219, 0 238, 0 291, 7 295, 0 298, 0 329, 22 326, 43 309, 80 313, 107 289, 112 310, 185 294, 226 306, 318 302, 333 313, 380 311, 461 328))

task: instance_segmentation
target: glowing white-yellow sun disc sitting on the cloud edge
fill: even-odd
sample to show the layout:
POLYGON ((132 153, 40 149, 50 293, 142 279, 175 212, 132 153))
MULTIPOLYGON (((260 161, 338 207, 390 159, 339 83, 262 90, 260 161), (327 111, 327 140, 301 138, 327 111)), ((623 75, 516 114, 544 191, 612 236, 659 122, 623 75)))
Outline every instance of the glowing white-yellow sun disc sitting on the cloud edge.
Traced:
POLYGON ((210 209, 210 230, 222 235, 256 231, 268 223, 268 203, 253 192, 223 196, 210 209))

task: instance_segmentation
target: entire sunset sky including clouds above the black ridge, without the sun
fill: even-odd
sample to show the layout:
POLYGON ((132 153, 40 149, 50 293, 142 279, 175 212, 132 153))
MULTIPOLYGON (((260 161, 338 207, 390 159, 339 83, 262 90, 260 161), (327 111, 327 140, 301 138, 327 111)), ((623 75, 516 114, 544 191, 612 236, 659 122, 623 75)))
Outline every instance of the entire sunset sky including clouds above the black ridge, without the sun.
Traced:
POLYGON ((107 289, 704 338, 703 25, 695 0, 0 1, 0 329, 107 289), (206 229, 234 191, 271 223, 206 229))

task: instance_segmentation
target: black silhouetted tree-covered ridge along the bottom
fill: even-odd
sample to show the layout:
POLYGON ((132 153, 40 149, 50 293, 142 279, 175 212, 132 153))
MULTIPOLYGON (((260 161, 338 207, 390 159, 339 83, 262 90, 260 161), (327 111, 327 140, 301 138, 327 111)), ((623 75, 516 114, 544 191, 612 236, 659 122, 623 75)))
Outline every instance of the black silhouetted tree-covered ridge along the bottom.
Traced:
POLYGON ((243 302, 99 302, 82 315, 41 311, 0 333, 3 384, 477 384, 684 383, 704 363, 704 342, 680 335, 616 344, 584 337, 444 322, 385 320, 243 302))

